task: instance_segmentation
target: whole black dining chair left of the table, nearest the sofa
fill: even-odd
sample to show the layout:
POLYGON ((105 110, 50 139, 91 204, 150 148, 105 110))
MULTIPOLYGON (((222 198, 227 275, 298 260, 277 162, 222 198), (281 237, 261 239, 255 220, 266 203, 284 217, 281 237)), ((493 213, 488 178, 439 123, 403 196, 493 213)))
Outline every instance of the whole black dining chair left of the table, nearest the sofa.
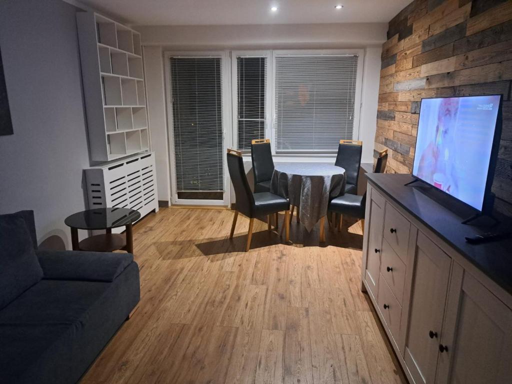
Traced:
MULTIPOLYGON (((240 213, 248 217, 249 232, 247 233, 247 246, 245 248, 245 250, 248 251, 251 246, 252 225, 254 223, 254 219, 257 217, 267 216, 268 229, 270 230, 270 215, 285 211, 284 225, 286 228, 286 241, 288 242, 290 240, 290 203, 288 200, 281 196, 271 194, 270 192, 252 193, 249 188, 247 176, 245 175, 242 152, 228 149, 227 167, 229 170, 229 176, 231 177, 231 182, 233 183, 234 195, 237 199, 229 239, 233 238, 234 228, 237 225, 238 214, 240 213)), ((277 222, 276 215, 276 228, 277 222)))

